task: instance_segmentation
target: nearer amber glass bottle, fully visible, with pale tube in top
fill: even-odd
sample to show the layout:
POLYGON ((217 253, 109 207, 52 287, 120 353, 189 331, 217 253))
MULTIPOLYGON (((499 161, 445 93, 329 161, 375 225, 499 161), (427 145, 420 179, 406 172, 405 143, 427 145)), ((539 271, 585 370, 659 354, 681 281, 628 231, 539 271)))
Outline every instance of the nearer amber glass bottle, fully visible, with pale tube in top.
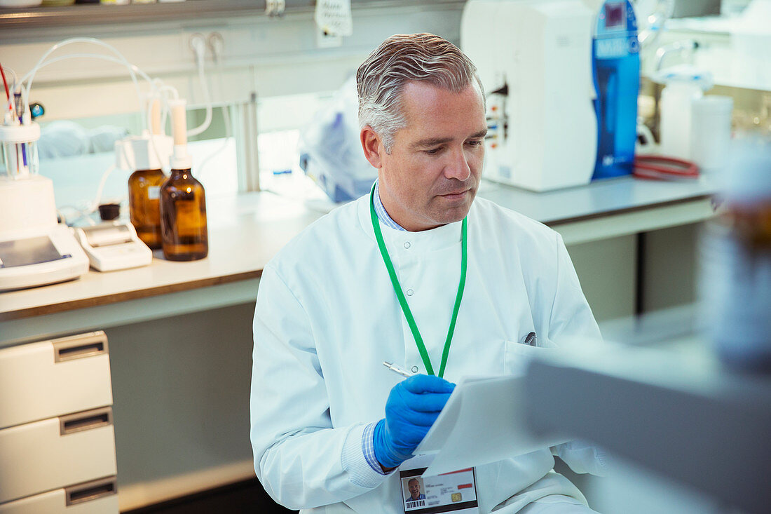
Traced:
POLYGON ((204 186, 190 168, 172 169, 160 187, 160 228, 166 259, 194 261, 209 253, 204 186))

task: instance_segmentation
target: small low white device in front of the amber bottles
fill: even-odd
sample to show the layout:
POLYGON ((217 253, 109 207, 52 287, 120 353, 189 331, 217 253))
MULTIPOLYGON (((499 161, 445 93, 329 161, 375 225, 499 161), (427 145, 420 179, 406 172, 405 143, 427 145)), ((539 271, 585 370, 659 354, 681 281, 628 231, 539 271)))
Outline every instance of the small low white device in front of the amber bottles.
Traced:
POLYGON ((153 262, 153 252, 136 235, 134 226, 127 222, 112 221, 75 228, 75 237, 96 271, 139 268, 153 262))

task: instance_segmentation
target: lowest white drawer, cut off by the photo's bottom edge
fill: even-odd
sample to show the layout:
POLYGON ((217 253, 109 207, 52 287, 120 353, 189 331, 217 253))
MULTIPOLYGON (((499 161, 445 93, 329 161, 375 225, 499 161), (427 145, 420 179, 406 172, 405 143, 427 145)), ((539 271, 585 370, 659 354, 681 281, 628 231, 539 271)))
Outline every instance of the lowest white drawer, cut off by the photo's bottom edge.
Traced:
POLYGON ((118 514, 116 478, 72 485, 0 504, 0 514, 118 514))

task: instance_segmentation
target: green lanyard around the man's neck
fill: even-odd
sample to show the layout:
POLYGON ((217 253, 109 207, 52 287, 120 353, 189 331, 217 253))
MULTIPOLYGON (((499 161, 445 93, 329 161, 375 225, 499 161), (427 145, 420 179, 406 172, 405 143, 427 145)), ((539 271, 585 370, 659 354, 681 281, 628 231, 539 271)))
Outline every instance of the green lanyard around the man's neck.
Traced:
MULTIPOLYGON (((407 319, 409 324, 409 330, 412 330, 412 336, 415 338, 415 344, 420 352, 420 357, 423 359, 423 364, 426 365, 426 371, 429 375, 433 375, 433 367, 431 366, 431 359, 429 359, 429 353, 426 350, 426 345, 423 343, 423 337, 420 336, 418 326, 415 323, 415 317, 412 316, 412 311, 409 309, 407 299, 402 293, 402 286, 399 285, 399 279, 396 278, 396 270, 393 268, 393 263, 388 255, 388 249, 385 248, 385 241, 383 241, 382 231, 380 230, 380 223, 378 221, 378 215, 375 212, 375 186, 372 186, 372 191, 369 193, 369 214, 372 218, 372 229, 375 231, 375 239, 377 239, 378 247, 380 249, 380 255, 382 255, 385 268, 388 269, 388 274, 391 277, 391 284, 393 290, 396 293, 396 298, 399 299, 399 306, 402 307, 402 313, 407 319)), ((455 296, 455 306, 453 307, 453 317, 449 320, 449 329, 447 329, 447 339, 444 341, 444 350, 442 352, 442 364, 439 367, 439 378, 444 377, 444 368, 447 365, 447 357, 449 356, 449 344, 453 341, 453 333, 455 333, 455 322, 458 319, 458 309, 460 309, 460 300, 463 299, 463 289, 466 288, 466 261, 468 260, 468 221, 463 218, 463 223, 460 227, 461 238, 461 254, 460 254, 460 282, 458 284, 458 293, 455 296)))

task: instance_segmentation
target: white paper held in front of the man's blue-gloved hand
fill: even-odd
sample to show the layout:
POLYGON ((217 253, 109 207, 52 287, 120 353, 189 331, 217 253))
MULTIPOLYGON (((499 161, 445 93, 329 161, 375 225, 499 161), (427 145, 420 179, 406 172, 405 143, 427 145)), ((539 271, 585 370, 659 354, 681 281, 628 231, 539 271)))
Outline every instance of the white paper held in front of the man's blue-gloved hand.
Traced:
POLYGON ((569 438, 534 435, 524 421, 524 377, 461 380, 415 453, 436 454, 425 475, 524 455, 569 438))

